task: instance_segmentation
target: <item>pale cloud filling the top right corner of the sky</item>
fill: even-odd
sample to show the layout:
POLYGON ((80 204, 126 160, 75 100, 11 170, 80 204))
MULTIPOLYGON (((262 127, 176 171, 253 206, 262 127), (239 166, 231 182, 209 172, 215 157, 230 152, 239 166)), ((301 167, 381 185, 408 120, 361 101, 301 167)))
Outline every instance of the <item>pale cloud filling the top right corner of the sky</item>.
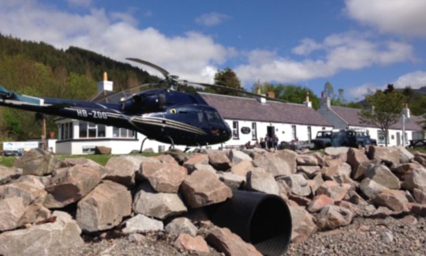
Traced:
POLYGON ((426 36, 424 0, 346 0, 349 17, 380 32, 426 36))

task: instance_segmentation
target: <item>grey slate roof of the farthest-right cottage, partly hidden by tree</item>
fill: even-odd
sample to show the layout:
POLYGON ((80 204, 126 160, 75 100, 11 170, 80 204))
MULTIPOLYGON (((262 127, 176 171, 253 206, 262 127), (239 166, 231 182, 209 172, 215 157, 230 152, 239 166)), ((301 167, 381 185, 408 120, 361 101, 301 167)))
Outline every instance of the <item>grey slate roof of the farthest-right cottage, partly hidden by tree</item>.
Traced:
MULTIPOLYGON (((348 125, 359 126, 359 127, 376 127, 372 124, 361 123, 358 117, 358 113, 361 112, 360 109, 352 109, 350 107, 335 107, 332 106, 331 109, 335 111, 348 125)), ((421 116, 411 116, 410 120, 405 120, 405 129, 412 131, 421 131, 422 127, 418 124, 423 120, 421 116)), ((396 122, 390 127, 390 129, 403 129, 403 122, 396 122)))

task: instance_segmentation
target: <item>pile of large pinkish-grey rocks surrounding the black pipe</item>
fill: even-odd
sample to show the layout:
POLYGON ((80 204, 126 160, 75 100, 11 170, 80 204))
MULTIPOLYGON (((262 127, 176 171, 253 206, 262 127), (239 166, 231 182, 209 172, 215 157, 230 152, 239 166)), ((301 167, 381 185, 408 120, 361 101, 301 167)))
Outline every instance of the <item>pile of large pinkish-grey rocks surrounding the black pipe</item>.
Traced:
POLYGON ((291 241, 299 243, 356 215, 425 216, 425 167, 425 154, 402 147, 325 155, 197 149, 189 156, 116 156, 104 167, 33 150, 14 167, 0 167, 0 255, 54 255, 82 244, 82 233, 113 228, 134 242, 162 231, 175 234, 179 250, 208 253, 209 244, 225 255, 260 255, 214 226, 205 206, 231 198, 232 189, 278 195, 291 211, 291 241))

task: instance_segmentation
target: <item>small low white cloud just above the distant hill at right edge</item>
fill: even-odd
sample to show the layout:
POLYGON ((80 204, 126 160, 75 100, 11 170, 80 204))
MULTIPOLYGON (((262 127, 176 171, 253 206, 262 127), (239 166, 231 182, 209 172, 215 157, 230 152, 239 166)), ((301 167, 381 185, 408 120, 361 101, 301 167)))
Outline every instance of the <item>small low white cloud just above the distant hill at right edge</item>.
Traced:
MULTIPOLYGON (((394 85, 395 88, 405 88, 410 86, 412 89, 419 89, 426 86, 426 72, 418 70, 416 72, 403 74, 402 76, 399 76, 399 78, 396 78, 396 81, 391 84, 394 85)), ((388 84, 374 85, 372 83, 366 83, 364 85, 350 88, 349 93, 350 96, 361 99, 368 93, 369 89, 374 92, 376 89, 386 89, 387 86, 388 84)))

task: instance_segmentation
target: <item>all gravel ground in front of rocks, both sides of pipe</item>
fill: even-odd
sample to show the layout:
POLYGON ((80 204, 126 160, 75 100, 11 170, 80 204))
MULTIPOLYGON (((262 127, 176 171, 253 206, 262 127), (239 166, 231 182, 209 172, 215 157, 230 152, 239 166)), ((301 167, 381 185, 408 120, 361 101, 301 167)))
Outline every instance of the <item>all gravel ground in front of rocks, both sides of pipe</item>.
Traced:
MULTIPOLYGON (((415 222, 358 217, 349 226, 315 233, 302 244, 290 244, 286 255, 426 255, 426 218, 415 222)), ((175 238, 163 232, 150 233, 144 242, 137 243, 110 231, 85 237, 84 246, 70 248, 63 255, 223 255, 211 247, 210 253, 184 252, 172 245, 175 238)))

